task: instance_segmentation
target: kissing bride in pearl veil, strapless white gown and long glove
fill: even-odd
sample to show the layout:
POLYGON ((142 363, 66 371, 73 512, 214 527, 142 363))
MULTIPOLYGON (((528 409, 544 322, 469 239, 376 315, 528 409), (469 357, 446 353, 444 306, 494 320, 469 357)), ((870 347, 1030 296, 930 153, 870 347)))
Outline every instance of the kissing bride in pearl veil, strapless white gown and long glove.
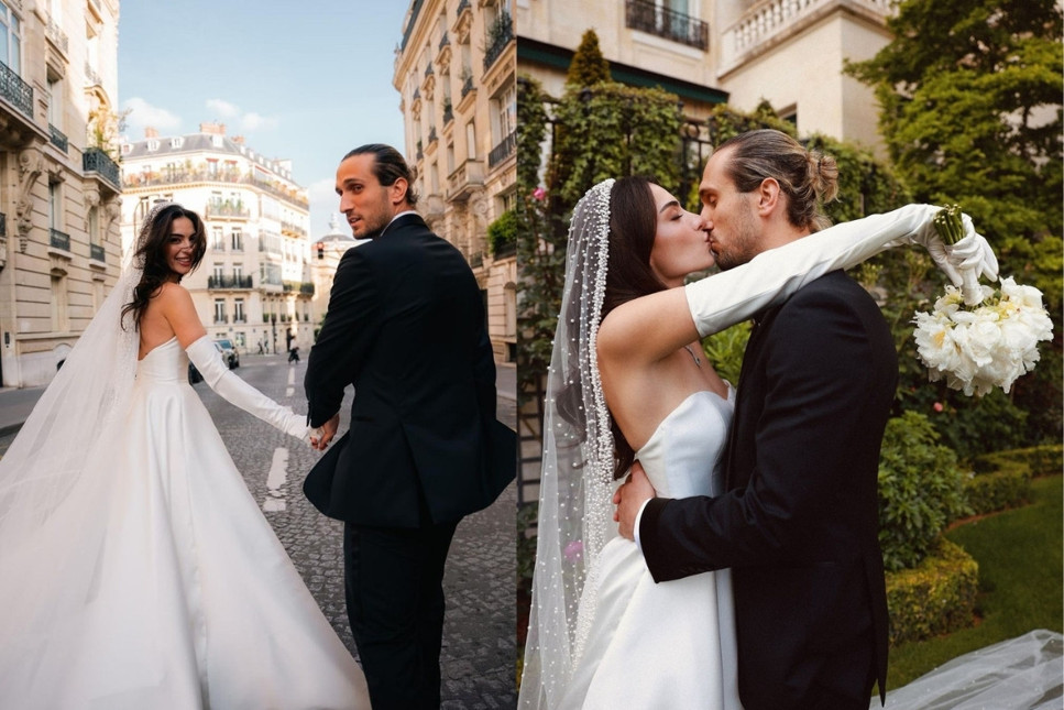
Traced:
MULTIPOLYGON (((832 168, 815 157, 811 171, 832 168)), ((965 254, 942 248, 936 211, 910 205, 823 229, 681 288, 714 261, 700 216, 643 178, 607 179, 584 195, 548 374, 518 707, 742 707, 730 570, 656 585, 637 545, 617 536, 618 479, 638 460, 659 495, 720 493, 732 389, 704 361, 698 332, 723 330, 896 243, 928 247, 959 283, 954 262, 965 254)))

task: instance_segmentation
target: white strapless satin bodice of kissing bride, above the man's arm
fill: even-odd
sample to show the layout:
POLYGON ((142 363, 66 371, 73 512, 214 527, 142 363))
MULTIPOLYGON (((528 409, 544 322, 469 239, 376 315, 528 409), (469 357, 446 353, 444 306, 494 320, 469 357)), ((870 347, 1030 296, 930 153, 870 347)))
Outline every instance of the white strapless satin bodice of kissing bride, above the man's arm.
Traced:
MULTIPOLYGON (((731 390, 730 390, 731 392, 731 390)), ((733 405, 713 392, 695 392, 666 416, 636 458, 662 498, 719 495, 717 469, 733 405)))

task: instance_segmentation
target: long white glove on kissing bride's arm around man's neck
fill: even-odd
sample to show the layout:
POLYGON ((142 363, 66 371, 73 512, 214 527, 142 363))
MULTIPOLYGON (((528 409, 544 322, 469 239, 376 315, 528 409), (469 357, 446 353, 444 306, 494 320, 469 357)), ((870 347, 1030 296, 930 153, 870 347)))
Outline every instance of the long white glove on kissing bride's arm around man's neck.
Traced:
POLYGON ((996 278, 994 252, 967 216, 963 219, 965 237, 953 245, 942 242, 931 221, 939 209, 934 205, 907 205, 885 215, 835 225, 761 252, 742 266, 688 284, 688 307, 699 335, 705 337, 746 320, 830 271, 856 266, 899 244, 923 245, 957 286, 965 273, 996 278))

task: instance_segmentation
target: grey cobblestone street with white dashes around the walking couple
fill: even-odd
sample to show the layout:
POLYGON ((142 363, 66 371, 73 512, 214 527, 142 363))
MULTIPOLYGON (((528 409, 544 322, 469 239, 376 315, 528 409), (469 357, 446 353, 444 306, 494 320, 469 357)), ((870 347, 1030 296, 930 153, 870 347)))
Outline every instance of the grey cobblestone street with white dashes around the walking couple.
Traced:
MULTIPOLYGON (((289 367, 284 356, 244 357, 241 378, 297 412, 306 411, 306 361, 289 367)), ((513 371, 503 371, 502 378, 513 371)), ((507 386, 501 381, 501 389, 507 386)), ((513 386, 509 385, 511 391, 513 386)), ((342 524, 325 517, 303 495, 303 479, 320 456, 222 401, 205 383, 195 385, 210 411, 248 488, 264 510, 319 607, 357 655, 343 601, 342 524)), ((341 407, 347 429, 350 392, 341 407)), ((516 425, 514 401, 498 400, 500 419, 516 425)), ((0 437, 0 455, 13 434, 0 437)), ((516 488, 487 510, 465 518, 451 545, 445 576, 442 708, 513 708, 515 689, 516 488)))

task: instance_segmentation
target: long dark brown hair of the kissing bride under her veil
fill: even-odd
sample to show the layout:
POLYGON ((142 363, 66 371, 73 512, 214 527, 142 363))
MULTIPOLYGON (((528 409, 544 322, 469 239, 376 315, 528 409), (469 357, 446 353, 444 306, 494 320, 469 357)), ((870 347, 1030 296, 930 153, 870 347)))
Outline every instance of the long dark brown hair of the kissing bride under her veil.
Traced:
MULTIPOLYGON (((667 288, 650 267, 650 251, 658 231, 651 184, 658 183, 652 177, 622 177, 614 182, 610 190, 610 255, 600 323, 621 304, 667 288)), ((569 308, 570 313, 566 317, 578 318, 580 304, 571 303, 569 308)), ((571 357, 573 362, 569 367, 575 372, 579 368, 575 362, 577 353, 571 353, 571 357)), ((572 384, 564 385, 558 393, 558 414, 577 432, 586 432, 582 400, 579 378, 574 378, 572 384)), ((617 480, 632 468, 635 450, 617 427, 616 420, 612 416, 610 419, 614 441, 613 478, 617 480)))

